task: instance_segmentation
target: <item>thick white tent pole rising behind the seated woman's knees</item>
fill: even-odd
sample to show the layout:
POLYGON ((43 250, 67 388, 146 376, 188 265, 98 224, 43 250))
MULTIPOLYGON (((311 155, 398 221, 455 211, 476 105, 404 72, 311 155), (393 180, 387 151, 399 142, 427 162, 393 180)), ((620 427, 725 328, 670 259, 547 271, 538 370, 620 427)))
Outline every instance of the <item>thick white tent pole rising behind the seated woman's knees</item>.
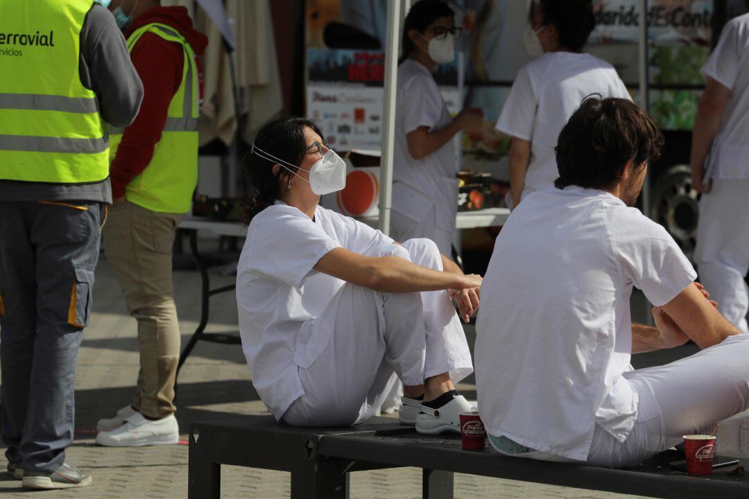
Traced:
POLYGON ((392 201, 392 153, 395 148, 395 94, 398 81, 398 34, 401 20, 401 0, 387 2, 387 31, 385 42, 385 82, 383 92, 382 153, 380 156, 380 230, 390 233, 392 201))

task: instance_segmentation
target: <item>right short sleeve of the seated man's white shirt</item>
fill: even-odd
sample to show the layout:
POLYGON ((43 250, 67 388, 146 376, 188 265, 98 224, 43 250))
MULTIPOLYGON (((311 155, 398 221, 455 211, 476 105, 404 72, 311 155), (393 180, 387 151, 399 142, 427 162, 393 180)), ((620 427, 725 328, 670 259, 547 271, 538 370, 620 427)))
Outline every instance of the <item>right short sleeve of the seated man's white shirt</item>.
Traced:
POLYGON ((634 287, 642 290, 650 303, 660 307, 691 284, 697 273, 664 227, 641 213, 637 218, 624 221, 627 228, 616 240, 619 263, 634 287))

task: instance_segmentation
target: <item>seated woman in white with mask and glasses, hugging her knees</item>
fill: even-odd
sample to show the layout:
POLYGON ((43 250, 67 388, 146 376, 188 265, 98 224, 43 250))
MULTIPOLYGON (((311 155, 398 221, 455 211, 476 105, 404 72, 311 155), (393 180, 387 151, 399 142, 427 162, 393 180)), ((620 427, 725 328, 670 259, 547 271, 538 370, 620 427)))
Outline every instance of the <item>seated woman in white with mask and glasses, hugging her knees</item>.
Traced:
POLYGON ((342 426, 375 413, 397 379, 419 432, 458 432, 473 371, 467 319, 482 279, 428 239, 399 244, 318 205, 345 163, 314 121, 284 118, 255 138, 254 189, 237 269, 240 334, 252 383, 278 420, 342 426))

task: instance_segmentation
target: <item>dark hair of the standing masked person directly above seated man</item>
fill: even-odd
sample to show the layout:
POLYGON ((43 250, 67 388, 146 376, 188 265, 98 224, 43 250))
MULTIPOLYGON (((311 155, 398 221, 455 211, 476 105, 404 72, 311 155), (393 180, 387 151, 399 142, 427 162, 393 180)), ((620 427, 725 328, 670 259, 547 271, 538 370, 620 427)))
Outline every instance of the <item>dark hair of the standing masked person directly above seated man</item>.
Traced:
POLYGON ((560 34, 560 46, 582 52, 591 31, 595 14, 591 0, 539 0, 543 6, 543 24, 554 25, 560 34))

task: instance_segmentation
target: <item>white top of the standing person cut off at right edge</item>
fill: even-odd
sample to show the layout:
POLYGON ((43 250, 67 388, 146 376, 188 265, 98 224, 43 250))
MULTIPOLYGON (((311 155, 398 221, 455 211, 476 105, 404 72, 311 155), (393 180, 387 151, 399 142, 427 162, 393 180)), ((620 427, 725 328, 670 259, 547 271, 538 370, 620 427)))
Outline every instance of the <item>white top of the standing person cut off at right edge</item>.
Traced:
POLYGON ((711 150, 711 177, 717 180, 749 179, 749 13, 731 19, 718 46, 702 68, 728 88, 721 127, 711 150))

